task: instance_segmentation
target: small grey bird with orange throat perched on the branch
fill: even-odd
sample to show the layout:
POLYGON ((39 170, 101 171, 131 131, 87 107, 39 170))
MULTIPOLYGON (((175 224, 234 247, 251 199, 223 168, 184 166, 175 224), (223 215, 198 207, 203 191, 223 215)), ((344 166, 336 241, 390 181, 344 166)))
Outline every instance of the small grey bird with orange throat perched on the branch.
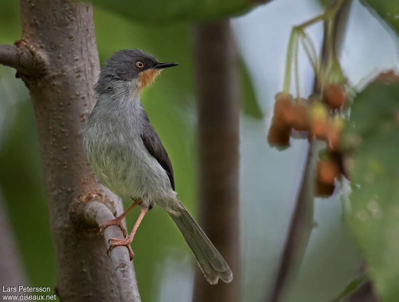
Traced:
POLYGON ((229 283, 233 275, 227 263, 177 197, 171 160, 140 102, 141 90, 162 69, 176 65, 160 63, 143 50, 125 49, 114 53, 101 69, 95 86, 97 103, 84 131, 84 150, 98 180, 134 201, 101 230, 115 224, 126 237, 121 221, 139 204, 140 215, 130 235, 111 239, 110 246, 126 246, 132 259, 130 244, 141 220, 154 205, 160 206, 182 232, 206 280, 216 284, 220 278, 229 283))

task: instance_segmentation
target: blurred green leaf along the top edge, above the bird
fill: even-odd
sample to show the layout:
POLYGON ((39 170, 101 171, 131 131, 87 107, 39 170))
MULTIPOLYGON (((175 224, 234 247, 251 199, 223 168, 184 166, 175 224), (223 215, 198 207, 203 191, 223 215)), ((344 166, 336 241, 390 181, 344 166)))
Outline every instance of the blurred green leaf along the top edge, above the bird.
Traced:
POLYGON ((117 12, 133 21, 166 23, 209 21, 241 14, 267 0, 91 0, 94 5, 117 12))

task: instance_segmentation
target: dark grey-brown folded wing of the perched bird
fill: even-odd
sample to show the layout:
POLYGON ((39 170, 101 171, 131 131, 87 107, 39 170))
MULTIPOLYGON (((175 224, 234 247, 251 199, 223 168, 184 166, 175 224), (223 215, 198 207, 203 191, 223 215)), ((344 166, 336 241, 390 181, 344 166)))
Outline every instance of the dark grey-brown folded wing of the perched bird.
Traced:
POLYGON ((169 176, 169 180, 171 181, 172 188, 175 189, 173 167, 168 152, 165 150, 164 145, 162 145, 161 139, 154 127, 150 124, 150 120, 148 119, 148 115, 144 109, 142 109, 141 115, 144 126, 141 139, 143 140, 144 146, 146 146, 150 154, 153 155, 159 164, 165 169, 169 176))

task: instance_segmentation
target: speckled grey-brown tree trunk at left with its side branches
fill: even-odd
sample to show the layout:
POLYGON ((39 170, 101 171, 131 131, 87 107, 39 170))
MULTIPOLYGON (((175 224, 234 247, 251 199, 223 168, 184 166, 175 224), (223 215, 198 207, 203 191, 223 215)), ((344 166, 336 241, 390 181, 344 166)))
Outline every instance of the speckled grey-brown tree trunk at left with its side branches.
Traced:
MULTIPOLYGON (((82 147, 99 73, 92 7, 69 0, 20 0, 20 12, 22 37, 14 46, 0 45, 0 63, 16 68, 34 107, 57 256, 56 293, 62 302, 140 301, 128 250, 117 247, 108 257, 98 229, 98 223, 113 218, 110 213, 122 212, 122 203, 96 181, 82 147), (92 212, 86 208, 91 199, 110 209, 96 212, 104 214, 96 217, 97 224, 82 212, 82 207, 92 212), (114 254, 120 253, 126 257, 117 265, 124 267, 115 270, 114 254)), ((115 226, 109 229, 106 236, 111 229, 118 232, 115 226)), ((120 230, 117 235, 122 238, 120 230)))

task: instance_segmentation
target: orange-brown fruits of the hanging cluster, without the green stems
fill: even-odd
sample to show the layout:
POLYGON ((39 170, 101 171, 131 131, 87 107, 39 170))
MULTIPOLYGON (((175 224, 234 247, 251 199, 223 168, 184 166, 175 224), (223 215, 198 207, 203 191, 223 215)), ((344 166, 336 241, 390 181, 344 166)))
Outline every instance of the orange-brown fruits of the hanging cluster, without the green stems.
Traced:
POLYGON ((340 134, 345 125, 341 112, 348 104, 344 86, 326 86, 322 95, 311 95, 308 100, 293 98, 280 92, 275 97, 274 114, 267 140, 273 147, 285 149, 290 137, 316 138, 326 142, 326 149, 317 163, 316 195, 333 193, 335 179, 346 174, 340 151, 340 134))

